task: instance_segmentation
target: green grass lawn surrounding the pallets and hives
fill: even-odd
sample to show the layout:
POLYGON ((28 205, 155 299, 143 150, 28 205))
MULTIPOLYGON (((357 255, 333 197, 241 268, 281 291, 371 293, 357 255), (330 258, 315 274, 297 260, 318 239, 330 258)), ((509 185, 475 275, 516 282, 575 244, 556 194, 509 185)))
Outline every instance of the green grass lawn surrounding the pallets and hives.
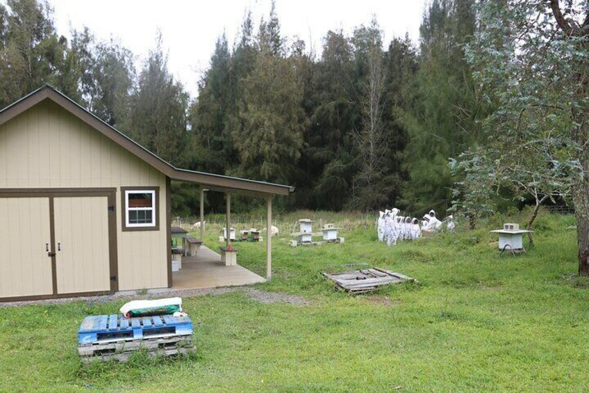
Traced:
MULTIPOLYGON (((83 317, 126 300, 0 308, 0 391, 589 391, 589 280, 575 277, 572 217, 542 214, 536 247, 518 257, 490 245, 505 218, 391 248, 374 220, 345 219, 340 245, 290 248, 282 230, 274 280, 256 286, 310 305, 184 298, 199 322, 188 358, 81 364, 83 317), (320 276, 359 262, 419 282, 352 297, 320 276)), ((240 264, 265 272, 265 243, 237 247, 240 264)))

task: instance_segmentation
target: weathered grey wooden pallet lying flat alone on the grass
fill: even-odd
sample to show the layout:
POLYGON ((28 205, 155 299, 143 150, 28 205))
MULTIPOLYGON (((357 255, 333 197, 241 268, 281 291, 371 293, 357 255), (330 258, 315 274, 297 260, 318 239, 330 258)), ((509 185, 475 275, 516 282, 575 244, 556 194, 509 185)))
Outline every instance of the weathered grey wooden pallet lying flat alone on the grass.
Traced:
POLYGON ((323 273, 323 275, 335 282, 336 289, 347 291, 350 294, 363 294, 374 291, 383 285, 415 281, 404 274, 394 273, 382 268, 367 268, 343 273, 323 273))

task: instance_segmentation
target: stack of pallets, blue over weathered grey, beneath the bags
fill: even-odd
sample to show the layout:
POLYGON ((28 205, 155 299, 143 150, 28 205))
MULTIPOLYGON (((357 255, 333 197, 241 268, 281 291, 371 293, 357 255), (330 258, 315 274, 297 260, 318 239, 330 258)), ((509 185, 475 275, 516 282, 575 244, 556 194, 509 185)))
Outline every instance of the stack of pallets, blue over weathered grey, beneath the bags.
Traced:
POLYGON ((190 353, 195 351, 192 333, 188 316, 86 316, 78 330, 78 355, 84 362, 124 362, 139 350, 146 350, 152 356, 190 353))

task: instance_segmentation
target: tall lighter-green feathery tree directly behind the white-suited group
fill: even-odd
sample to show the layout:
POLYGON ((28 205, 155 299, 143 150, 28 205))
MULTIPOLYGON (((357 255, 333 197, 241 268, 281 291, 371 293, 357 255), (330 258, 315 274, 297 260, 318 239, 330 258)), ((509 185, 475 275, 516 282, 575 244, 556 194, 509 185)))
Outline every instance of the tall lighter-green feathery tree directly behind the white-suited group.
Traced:
POLYGON ((448 160, 476 143, 481 103, 464 58, 475 29, 474 0, 434 0, 420 28, 420 69, 413 109, 405 113, 405 162, 410 211, 445 210, 454 179, 448 160))

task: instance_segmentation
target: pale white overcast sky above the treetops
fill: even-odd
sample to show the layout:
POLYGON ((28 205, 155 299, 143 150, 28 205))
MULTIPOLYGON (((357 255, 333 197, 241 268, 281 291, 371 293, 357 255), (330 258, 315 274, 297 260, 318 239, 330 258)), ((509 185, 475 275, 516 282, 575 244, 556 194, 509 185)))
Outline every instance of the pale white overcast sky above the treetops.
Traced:
MULTIPOLYGON (((158 29, 169 54, 169 69, 182 81, 192 97, 197 80, 208 67, 217 37, 226 32, 230 45, 249 8, 258 26, 260 16, 269 14, 270 0, 49 0, 55 10, 58 33, 88 26, 97 38, 120 40, 138 55, 140 62, 155 45, 158 29)), ((406 32, 417 42, 425 0, 276 0, 281 33, 298 35, 313 42, 320 54, 327 31, 370 24, 376 15, 385 42, 406 32)), ((140 63, 138 63, 139 65, 140 63)))

